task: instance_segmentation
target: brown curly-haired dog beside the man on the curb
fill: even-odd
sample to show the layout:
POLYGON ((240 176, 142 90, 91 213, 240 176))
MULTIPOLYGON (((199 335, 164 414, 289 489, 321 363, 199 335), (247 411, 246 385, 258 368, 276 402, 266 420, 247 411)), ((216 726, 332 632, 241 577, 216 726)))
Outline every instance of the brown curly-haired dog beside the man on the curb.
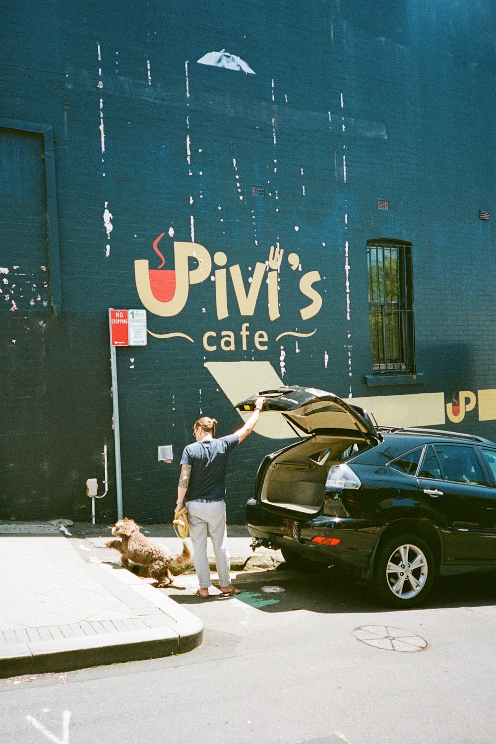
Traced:
POLYGON ((136 522, 127 517, 115 523, 112 527, 112 535, 122 539, 109 540, 106 546, 115 548, 122 554, 121 565, 129 571, 132 570, 129 561, 138 563, 138 565, 146 565, 149 576, 158 581, 156 586, 167 586, 173 583, 169 570, 171 564, 174 568, 179 568, 190 562, 191 552, 185 541, 182 553, 174 555, 167 548, 162 548, 161 545, 157 545, 156 542, 142 535, 136 522))

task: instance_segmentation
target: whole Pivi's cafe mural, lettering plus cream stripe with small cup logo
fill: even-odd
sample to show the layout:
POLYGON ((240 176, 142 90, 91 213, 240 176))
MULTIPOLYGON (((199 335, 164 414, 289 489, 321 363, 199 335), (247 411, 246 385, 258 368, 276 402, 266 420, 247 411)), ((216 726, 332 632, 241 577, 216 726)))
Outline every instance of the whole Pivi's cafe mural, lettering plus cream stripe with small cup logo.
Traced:
MULTIPOLYGON (((207 358, 204 366, 233 404, 253 394, 254 380, 257 380, 259 389, 283 385, 270 362, 233 362, 233 357, 228 352, 247 351, 248 344, 250 349, 256 347, 260 351, 266 351, 271 343, 280 342, 285 336, 302 339, 314 336, 317 324, 314 324, 312 318, 318 315, 322 307, 323 278, 320 273, 303 272, 297 253, 288 254, 279 247, 271 247, 267 260, 257 261, 253 269, 248 269, 251 276, 244 280, 239 263, 228 266, 228 257, 223 251, 216 251, 212 257, 207 248, 199 243, 178 241, 174 242, 174 269, 164 269, 164 255, 158 247, 162 237, 164 233, 153 243, 155 253, 161 260, 157 269, 150 269, 148 260, 135 260, 136 289, 146 310, 162 318, 174 318, 186 307, 190 289, 196 284, 207 282, 203 290, 211 292, 219 321, 232 318, 237 311, 242 317, 249 318, 254 315, 257 305, 260 305, 267 308, 267 324, 265 327, 255 328, 245 321, 233 330, 201 330, 195 338, 184 333, 181 326, 170 333, 154 333, 149 329, 148 333, 157 339, 181 337, 192 344, 200 344, 206 352, 215 353, 215 361, 207 358), (292 307, 296 306, 294 325, 275 333, 271 331, 271 322, 280 318, 280 287, 291 272, 298 272, 299 275, 299 294, 295 292, 292 295, 292 307), (228 293, 229 283, 233 296, 232 292, 228 293), (233 307, 230 307, 228 297, 231 298, 233 307)), ((260 313, 258 315, 260 317, 260 313)), ((190 333, 194 335, 194 332, 190 333)), ((281 373, 283 366, 281 363, 281 373)), ((458 424, 476 406, 478 420, 496 420, 494 388, 477 392, 456 391, 452 397, 451 393, 448 395, 448 403, 445 402, 443 392, 354 397, 353 401, 373 413, 379 423, 394 426, 440 426, 446 423, 446 419, 458 424)), ((272 416, 268 412, 257 426, 257 433, 274 438, 293 436, 292 432, 284 429, 281 421, 282 417, 277 414, 272 416)))

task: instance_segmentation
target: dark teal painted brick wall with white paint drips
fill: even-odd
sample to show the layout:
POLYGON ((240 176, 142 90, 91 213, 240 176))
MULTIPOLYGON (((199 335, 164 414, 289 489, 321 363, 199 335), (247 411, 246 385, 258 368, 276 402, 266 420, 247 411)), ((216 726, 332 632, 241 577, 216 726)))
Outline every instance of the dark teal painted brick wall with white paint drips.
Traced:
MULTIPOLYGON (((148 311, 155 335, 146 347, 117 350, 128 516, 170 519, 178 460, 197 417, 215 416, 219 434, 240 425, 205 363, 268 363, 286 384, 343 397, 442 392, 449 403, 457 391, 496 388, 494 230, 478 219, 480 209, 496 214, 492 2, 21 6, 3 11, 0 126, 25 121, 54 131, 62 313, 55 320, 37 300, 13 310, 14 278, 28 276, 31 287, 44 264, 30 260, 30 224, 13 218, 16 173, 3 156, 1 219, 8 213, 15 230, 0 238, 9 272, 0 278, 10 282, 2 286, 9 300, 0 299, 0 519, 88 519, 86 478, 99 478, 101 489, 105 445, 111 483, 97 519, 115 516, 107 310, 143 307, 134 262, 148 260, 156 272, 160 252, 161 270, 173 269, 174 241, 204 246, 212 279, 192 284, 175 315, 148 311), (222 50, 254 74, 197 61, 222 50), (253 186, 264 195, 253 196, 253 186), (387 211, 378 199, 388 200, 387 211), (422 385, 365 385, 366 246, 378 237, 412 243, 422 385), (239 266, 248 293, 271 247, 283 251, 280 315, 271 318, 265 275, 253 315, 242 315, 229 269, 239 266), (213 278, 222 268, 229 314, 219 319, 213 278), (302 318, 315 299, 300 291, 309 272, 318 272, 312 286, 322 307, 302 318), (261 348, 256 331, 267 335, 261 348), (279 338, 289 331, 306 337, 279 338), (209 332, 216 350, 205 347, 209 332), (183 336, 161 337, 170 333, 183 336), (173 465, 157 460, 167 443, 173 465)), ((49 294, 50 266, 43 280, 49 294)), ((252 392, 261 369, 254 366, 252 392)), ((445 422, 460 426, 496 438, 477 405, 463 423, 445 422)), ((258 462, 280 444, 253 434, 233 454, 231 522, 243 519, 258 462)))

